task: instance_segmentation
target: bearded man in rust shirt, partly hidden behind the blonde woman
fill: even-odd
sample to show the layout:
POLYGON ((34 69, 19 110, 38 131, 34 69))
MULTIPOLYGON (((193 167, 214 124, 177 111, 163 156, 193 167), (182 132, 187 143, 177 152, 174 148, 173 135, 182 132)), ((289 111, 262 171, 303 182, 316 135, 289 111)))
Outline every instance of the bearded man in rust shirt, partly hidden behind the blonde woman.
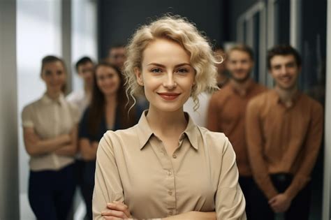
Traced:
POLYGON ((253 52, 246 45, 237 45, 228 51, 226 67, 230 72, 230 82, 216 91, 209 102, 207 129, 223 132, 235 149, 240 177, 239 183, 247 200, 247 219, 250 219, 251 168, 247 156, 245 140, 245 110, 248 101, 265 91, 251 79, 253 52))

